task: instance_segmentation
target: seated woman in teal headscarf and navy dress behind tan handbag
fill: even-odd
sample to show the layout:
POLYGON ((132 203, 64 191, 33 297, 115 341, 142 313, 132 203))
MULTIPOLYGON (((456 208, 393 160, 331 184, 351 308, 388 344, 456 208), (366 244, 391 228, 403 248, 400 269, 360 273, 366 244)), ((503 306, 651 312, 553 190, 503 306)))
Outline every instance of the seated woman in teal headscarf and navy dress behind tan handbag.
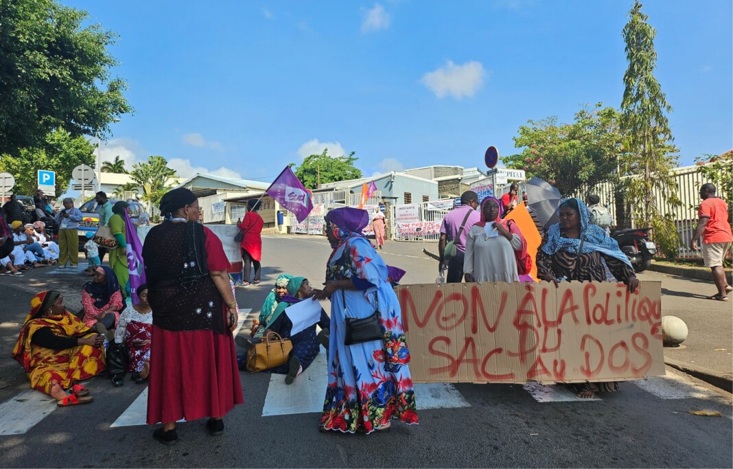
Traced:
MULTIPOLYGON (((313 362, 320 350, 319 342, 328 349, 328 329, 331 327, 331 320, 328 319, 323 309, 321 309, 320 320, 317 323, 309 325, 300 332, 292 334, 292 336, 290 335, 293 318, 288 316, 288 307, 300 303, 306 298, 311 298, 312 290, 307 278, 290 278, 287 284, 287 295, 282 296, 275 312, 270 317, 270 322, 265 327, 265 337, 268 333, 274 332, 282 339, 290 339, 292 342, 292 352, 290 352, 287 363, 277 368, 265 370, 285 374, 285 384, 291 384, 295 377, 313 362), (318 335, 316 335, 316 325, 321 328, 318 335)), ((249 340, 244 336, 237 336, 236 341, 240 347, 248 349, 259 339, 249 340)))

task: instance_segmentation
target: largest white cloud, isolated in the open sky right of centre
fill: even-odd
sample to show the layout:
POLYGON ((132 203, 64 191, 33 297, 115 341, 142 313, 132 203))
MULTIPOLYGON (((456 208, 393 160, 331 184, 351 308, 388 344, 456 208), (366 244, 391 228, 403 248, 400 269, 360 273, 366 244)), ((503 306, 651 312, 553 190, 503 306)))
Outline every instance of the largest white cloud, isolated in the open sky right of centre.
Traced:
POLYGON ((486 74, 481 62, 472 60, 456 65, 449 60, 445 67, 423 75, 421 82, 437 97, 451 95, 460 100, 464 96, 475 95, 484 83, 486 74))

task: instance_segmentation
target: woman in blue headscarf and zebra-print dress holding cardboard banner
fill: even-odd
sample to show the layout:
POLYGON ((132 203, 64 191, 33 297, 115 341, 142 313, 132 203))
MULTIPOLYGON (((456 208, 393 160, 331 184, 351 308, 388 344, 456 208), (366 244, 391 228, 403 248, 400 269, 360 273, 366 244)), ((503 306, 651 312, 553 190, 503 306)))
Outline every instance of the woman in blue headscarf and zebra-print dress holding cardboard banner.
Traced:
MULTIPOLYGON (((581 199, 564 199, 558 209, 560 223, 550 226, 537 250, 537 276, 559 284, 560 281, 605 281, 605 265, 630 292, 638 279, 616 240, 600 226, 589 223, 589 212, 581 199)), ((619 384, 581 383, 575 385, 578 397, 590 398, 596 392, 618 391, 619 384)))

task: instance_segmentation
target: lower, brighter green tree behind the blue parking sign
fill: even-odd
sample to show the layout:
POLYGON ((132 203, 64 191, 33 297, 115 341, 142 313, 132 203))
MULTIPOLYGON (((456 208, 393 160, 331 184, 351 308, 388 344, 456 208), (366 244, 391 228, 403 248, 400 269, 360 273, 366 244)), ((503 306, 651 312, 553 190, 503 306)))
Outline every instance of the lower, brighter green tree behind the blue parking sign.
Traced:
POLYGON ((13 192, 32 195, 38 187, 37 171, 56 171, 56 197, 69 187, 71 171, 80 164, 94 165, 95 146, 83 136, 73 137, 65 130, 56 130, 46 136, 43 145, 21 149, 15 155, 0 156, 0 172, 15 177, 13 192))

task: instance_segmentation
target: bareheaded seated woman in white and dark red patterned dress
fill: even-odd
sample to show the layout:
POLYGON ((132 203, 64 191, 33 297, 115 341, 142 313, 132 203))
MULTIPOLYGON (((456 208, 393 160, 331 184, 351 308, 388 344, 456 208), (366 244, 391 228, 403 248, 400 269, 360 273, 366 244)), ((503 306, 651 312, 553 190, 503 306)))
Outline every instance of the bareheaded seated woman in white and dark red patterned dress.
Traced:
MULTIPOLYGON (((152 335, 152 309, 147 302, 147 285, 137 288, 140 303, 130 305, 122 311, 114 330, 114 341, 127 345, 130 353, 128 372, 135 383, 144 383, 150 373, 150 339, 152 335)), ((119 377, 122 383, 122 377, 119 377)))

